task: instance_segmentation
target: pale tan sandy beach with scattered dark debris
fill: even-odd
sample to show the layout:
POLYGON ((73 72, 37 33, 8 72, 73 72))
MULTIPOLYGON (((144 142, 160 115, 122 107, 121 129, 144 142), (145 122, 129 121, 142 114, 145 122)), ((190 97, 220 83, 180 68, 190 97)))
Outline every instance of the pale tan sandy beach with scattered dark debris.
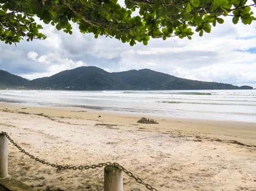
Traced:
MULTIPOLYGON (((0 103, 0 132, 50 163, 117 162, 158 190, 256 190, 256 123, 141 117, 0 103)), ((103 190, 103 168, 56 170, 8 150, 9 175, 36 190, 103 190)), ((148 189, 124 174, 123 190, 148 189)))

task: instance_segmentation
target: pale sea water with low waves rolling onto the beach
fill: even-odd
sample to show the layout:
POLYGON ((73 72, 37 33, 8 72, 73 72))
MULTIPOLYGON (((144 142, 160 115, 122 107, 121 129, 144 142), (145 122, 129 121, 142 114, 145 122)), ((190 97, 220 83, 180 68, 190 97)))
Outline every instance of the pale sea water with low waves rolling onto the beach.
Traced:
POLYGON ((1 102, 89 110, 256 122, 256 89, 166 91, 1 90, 1 102))

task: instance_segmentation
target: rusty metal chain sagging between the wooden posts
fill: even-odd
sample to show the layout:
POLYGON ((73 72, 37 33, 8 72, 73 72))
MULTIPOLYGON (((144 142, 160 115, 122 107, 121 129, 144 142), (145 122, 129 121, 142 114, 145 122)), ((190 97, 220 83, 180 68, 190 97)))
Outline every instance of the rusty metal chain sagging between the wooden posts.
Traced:
POLYGON ((11 139, 10 136, 6 132, 2 132, 2 133, 0 133, 0 135, 5 135, 6 138, 10 142, 12 142, 12 144, 15 147, 17 147, 20 150, 20 152, 22 152, 22 153, 26 154, 27 156, 29 156, 30 158, 36 160, 36 162, 42 163, 42 164, 47 165, 47 166, 52 166, 53 168, 56 168, 57 170, 61 170, 61 169, 67 169, 67 170, 88 170, 88 169, 102 168, 103 166, 114 166, 114 167, 122 170, 129 177, 134 178, 134 180, 137 183, 143 184, 147 189, 153 190, 153 191, 158 191, 156 188, 153 188, 150 184, 145 183, 141 178, 139 178, 138 176, 135 176, 132 172, 130 172, 129 170, 127 170, 126 168, 124 168, 122 165, 120 165, 118 163, 106 162, 106 163, 98 163, 98 164, 93 164, 93 165, 80 165, 80 166, 70 166, 70 165, 63 166, 63 165, 58 165, 58 164, 54 164, 54 163, 49 163, 49 162, 45 162, 45 160, 41 160, 41 159, 33 156, 29 152, 26 152, 22 147, 20 147, 18 144, 16 144, 16 142, 14 142, 14 140, 11 139))

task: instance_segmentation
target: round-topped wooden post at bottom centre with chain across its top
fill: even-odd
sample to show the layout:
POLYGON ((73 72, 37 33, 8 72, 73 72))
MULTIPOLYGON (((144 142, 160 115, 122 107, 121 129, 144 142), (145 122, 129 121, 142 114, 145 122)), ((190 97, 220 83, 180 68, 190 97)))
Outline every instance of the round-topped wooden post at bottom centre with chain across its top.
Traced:
POLYGON ((123 191, 123 171, 115 166, 104 168, 104 191, 123 191))

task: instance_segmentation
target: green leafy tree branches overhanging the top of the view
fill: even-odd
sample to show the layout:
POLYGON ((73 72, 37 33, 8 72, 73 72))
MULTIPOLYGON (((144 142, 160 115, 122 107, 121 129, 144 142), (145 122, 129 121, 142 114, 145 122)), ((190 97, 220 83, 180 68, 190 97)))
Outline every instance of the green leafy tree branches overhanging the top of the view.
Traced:
POLYGON ((18 43, 44 39, 41 25, 51 23, 58 30, 72 34, 71 23, 82 33, 106 35, 134 45, 147 44, 151 38, 173 36, 191 39, 194 31, 200 36, 211 27, 223 23, 223 16, 232 16, 245 25, 256 18, 251 11, 256 0, 0 0, 0 40, 18 43), (194 28, 194 29, 192 29, 194 28))

